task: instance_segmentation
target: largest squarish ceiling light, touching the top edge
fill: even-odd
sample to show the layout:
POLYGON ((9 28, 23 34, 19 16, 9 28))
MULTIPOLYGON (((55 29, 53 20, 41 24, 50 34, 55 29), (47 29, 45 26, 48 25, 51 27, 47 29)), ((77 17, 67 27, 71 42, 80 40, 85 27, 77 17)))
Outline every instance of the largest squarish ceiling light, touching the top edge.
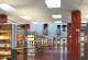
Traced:
POLYGON ((47 8, 61 8, 61 0, 45 0, 47 8))

